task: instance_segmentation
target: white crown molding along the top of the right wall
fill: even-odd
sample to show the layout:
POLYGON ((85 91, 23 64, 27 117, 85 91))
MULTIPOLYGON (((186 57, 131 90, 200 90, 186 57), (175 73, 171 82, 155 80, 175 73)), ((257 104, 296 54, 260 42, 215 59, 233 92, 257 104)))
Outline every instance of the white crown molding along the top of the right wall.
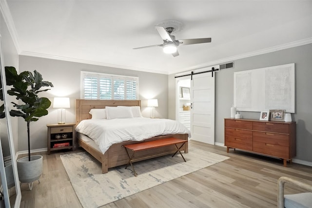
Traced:
MULTIPOLYGON (((254 56, 258 56, 258 55, 262 55, 262 54, 272 53, 275 51, 280 51, 280 50, 293 48, 293 47, 297 47, 297 46, 301 46, 301 45, 307 45, 307 44, 311 44, 311 43, 312 43, 312 38, 301 39, 301 40, 293 41, 290 43, 285 43, 285 44, 273 46, 270 48, 261 49, 261 50, 254 51, 254 52, 249 52, 249 53, 245 53, 245 54, 221 58, 221 59, 217 59, 214 61, 198 64, 198 65, 184 69, 183 72, 191 71, 191 70, 195 70, 195 69, 202 69, 202 68, 209 67, 209 66, 219 65, 219 64, 222 64, 222 63, 225 63, 228 61, 234 61, 237 59, 247 58, 247 57, 254 57, 254 56)), ((181 71, 169 72, 169 75, 176 74, 176 73, 181 73, 181 71)))

